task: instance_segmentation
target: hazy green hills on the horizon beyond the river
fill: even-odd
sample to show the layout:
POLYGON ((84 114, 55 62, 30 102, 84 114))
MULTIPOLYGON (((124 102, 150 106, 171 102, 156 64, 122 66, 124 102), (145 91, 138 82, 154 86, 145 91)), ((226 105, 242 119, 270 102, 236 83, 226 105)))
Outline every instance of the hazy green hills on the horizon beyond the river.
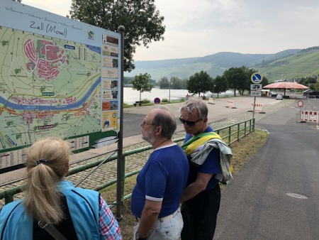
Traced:
POLYGON ((124 72, 125 77, 134 77, 147 72, 153 80, 160 80, 162 77, 184 79, 201 70, 208 72, 211 77, 216 77, 223 75, 223 72, 230 67, 245 65, 259 70, 267 76, 269 82, 274 82, 283 78, 303 77, 316 71, 319 73, 319 70, 315 69, 319 65, 319 50, 313 47, 305 50, 289 49, 275 54, 223 52, 198 58, 136 61, 134 64, 135 70, 124 72), (318 53, 316 55, 318 58, 313 55, 315 53, 318 53))

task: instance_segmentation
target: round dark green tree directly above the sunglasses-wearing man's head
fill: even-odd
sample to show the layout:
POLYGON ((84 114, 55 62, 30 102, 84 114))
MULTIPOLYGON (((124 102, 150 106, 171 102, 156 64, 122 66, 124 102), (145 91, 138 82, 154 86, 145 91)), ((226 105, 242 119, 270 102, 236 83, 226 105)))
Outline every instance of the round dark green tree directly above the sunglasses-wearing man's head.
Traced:
POLYGON ((187 90, 193 94, 198 94, 198 97, 200 97, 201 92, 206 93, 209 91, 211 81, 211 76, 208 75, 207 72, 196 72, 194 75, 189 77, 189 81, 187 82, 187 90))

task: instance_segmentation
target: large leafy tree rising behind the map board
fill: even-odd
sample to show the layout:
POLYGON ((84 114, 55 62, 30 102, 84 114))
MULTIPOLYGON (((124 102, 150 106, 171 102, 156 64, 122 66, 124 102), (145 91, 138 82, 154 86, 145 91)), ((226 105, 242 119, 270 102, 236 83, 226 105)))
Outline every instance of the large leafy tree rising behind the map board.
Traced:
POLYGON ((125 27, 124 70, 135 69, 133 54, 137 46, 164 40, 164 17, 154 4, 155 0, 72 0, 71 18, 100 28, 117 32, 125 27))

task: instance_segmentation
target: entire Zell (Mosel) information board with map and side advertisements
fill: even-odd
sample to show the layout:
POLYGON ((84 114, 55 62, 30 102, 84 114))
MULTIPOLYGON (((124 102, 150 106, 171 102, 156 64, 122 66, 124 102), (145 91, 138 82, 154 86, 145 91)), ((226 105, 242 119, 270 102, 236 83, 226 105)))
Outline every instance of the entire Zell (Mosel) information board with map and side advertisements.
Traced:
POLYGON ((11 0, 0 25, 0 168, 44 136, 72 151, 117 136, 120 34, 11 0))

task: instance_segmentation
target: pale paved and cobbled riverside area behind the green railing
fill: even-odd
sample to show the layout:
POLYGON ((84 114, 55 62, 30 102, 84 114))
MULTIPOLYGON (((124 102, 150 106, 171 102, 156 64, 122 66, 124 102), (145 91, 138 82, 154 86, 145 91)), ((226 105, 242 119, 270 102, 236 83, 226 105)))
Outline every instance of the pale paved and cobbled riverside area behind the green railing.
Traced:
MULTIPOLYGON (((296 95, 296 97, 301 97, 299 95, 296 95)), ((301 97, 302 98, 302 97, 301 97)), ((281 101, 276 100, 274 97, 257 97, 255 104, 262 104, 262 106, 272 106, 273 104, 278 104, 281 101)), ((213 121, 219 121, 221 119, 227 119, 230 116, 234 116, 237 114, 241 114, 243 112, 251 111, 252 110, 252 104, 254 103, 254 97, 230 97, 230 98, 224 98, 221 97, 219 99, 213 99, 213 102, 211 104, 208 104, 208 120, 210 122, 213 121), (229 107, 230 103, 229 101, 233 101, 233 107, 229 107)), ((165 104, 163 105, 167 108, 169 108, 170 111, 172 111, 172 114, 176 116, 177 118, 179 115, 179 107, 181 107, 181 103, 171 103, 171 104, 165 104)), ((124 113, 124 131, 123 136, 128 136, 123 138, 123 151, 128 151, 135 148, 140 148, 142 146, 148 146, 148 143, 142 140, 142 136, 140 134, 140 127, 139 123, 136 122, 136 119, 134 119, 134 126, 136 126, 133 129, 129 129, 127 132, 125 131, 125 125, 130 126, 132 123, 129 123, 130 118, 126 119, 125 116, 128 115, 136 115, 141 120, 144 119, 146 114, 151 110, 154 109, 157 106, 145 106, 145 107, 131 107, 131 108, 125 108, 123 109, 124 113), (138 134, 135 133, 135 131, 138 132, 138 134), (133 136, 130 136, 130 134, 133 134, 133 136)), ((182 124, 178 124, 177 126, 177 133, 180 132, 180 137, 184 136, 184 128, 182 124)), ((177 134, 178 135, 178 134, 177 134)), ((71 168, 75 166, 79 166, 83 163, 89 163, 92 160, 96 159, 103 159, 107 158, 107 156, 110 156, 112 151, 116 151, 118 148, 118 144, 114 143, 109 146, 104 146, 102 148, 92 148, 89 151, 85 151, 82 153, 77 153, 71 156, 71 168), (77 163, 79 160, 82 160, 82 163, 77 163)), ((137 153, 133 156, 127 157, 125 162, 125 173, 128 173, 132 170, 137 170, 142 168, 142 165, 145 164, 145 161, 147 160, 147 156, 150 154, 150 151, 137 153)), ((113 163, 107 163, 100 167, 99 173, 94 173, 94 175, 90 176, 90 178, 86 178, 86 180, 79 185, 79 187, 87 187, 87 188, 94 188, 97 185, 101 185, 105 182, 108 182, 110 180, 113 180, 116 178, 116 161, 113 161, 113 163), (98 177, 96 177, 98 175, 98 177)), ((91 170, 86 170, 81 172, 81 174, 76 174, 68 177, 68 180, 71 180, 72 182, 77 183, 80 182, 86 174, 91 172, 91 170)), ((22 178, 26 175, 26 169, 18 169, 11 171, 9 173, 3 173, 0 175, 0 191, 6 190, 10 187, 21 185, 22 178)), ((16 197, 19 197, 17 195, 16 197)), ((21 197, 21 196, 20 196, 21 197)), ((0 206, 1 206, 1 200, 0 200, 0 206)))

